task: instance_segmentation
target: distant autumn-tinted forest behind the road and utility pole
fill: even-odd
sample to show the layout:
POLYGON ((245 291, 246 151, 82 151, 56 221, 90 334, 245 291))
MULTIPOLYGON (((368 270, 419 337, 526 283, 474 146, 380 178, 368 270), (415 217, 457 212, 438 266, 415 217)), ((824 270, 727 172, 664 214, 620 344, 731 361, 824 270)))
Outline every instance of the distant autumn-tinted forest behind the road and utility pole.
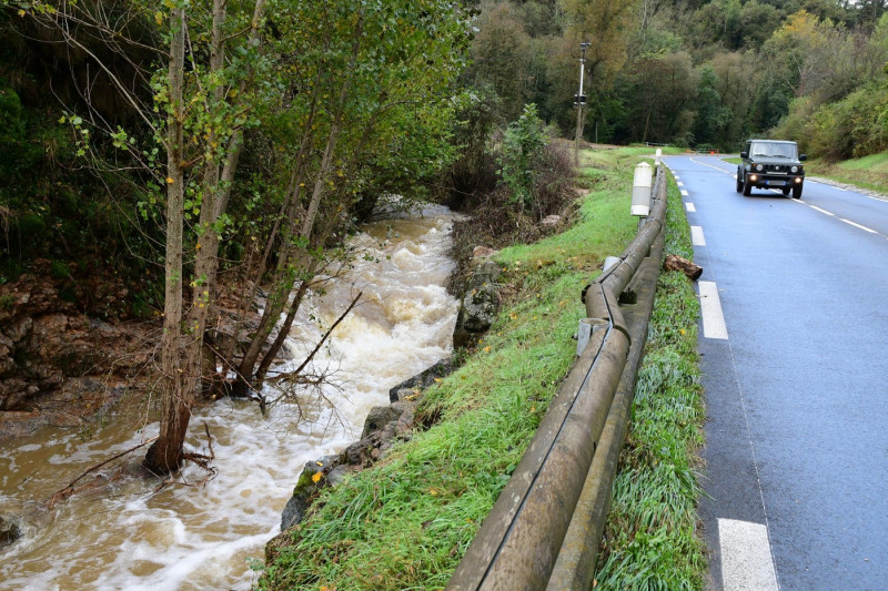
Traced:
POLYGON ((579 43, 584 137, 736 151, 753 134, 815 157, 888 146, 887 2, 532 0, 478 3, 465 80, 503 119, 526 102, 572 137, 579 43))

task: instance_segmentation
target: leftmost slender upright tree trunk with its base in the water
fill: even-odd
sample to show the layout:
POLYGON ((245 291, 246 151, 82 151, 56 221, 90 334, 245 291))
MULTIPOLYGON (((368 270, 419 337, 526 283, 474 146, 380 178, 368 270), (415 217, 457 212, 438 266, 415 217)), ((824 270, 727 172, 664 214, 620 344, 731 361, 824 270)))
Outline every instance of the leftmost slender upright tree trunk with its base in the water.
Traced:
POLYGON ((155 473, 178 470, 191 418, 189 393, 182 389, 182 227, 184 173, 182 137, 184 124, 183 72, 185 61, 185 9, 170 16, 170 114, 167 123, 167 264, 161 343, 162 401, 160 437, 148 449, 144 466, 155 473))

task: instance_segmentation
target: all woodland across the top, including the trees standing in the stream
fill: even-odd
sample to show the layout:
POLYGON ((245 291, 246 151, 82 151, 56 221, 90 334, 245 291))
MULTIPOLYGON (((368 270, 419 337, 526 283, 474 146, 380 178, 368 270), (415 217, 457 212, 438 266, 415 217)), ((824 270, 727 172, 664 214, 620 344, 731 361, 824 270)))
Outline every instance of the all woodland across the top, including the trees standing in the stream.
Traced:
MULTIPOLYGON (((888 147, 886 4, 0 0, 0 288, 38 275, 90 317, 163 324, 164 471, 195 396, 261 390, 278 318, 381 195, 519 230, 556 213, 544 135, 573 137, 582 42, 587 141, 779 135, 838 160, 888 147), (225 285, 246 286, 228 318, 225 285)), ((0 349, 27 378, 32 351, 0 349)))

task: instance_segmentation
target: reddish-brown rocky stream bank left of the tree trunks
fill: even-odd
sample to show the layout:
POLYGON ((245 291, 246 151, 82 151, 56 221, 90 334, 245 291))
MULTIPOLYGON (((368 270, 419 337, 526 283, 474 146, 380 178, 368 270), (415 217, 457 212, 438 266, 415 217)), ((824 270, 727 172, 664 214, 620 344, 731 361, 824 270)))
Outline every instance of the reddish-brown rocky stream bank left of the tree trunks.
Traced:
POLYGON ((124 316, 122 282, 71 287, 50 265, 38 261, 34 273, 0 285, 0 438, 85 425, 133 387, 152 355, 157 326, 124 316))

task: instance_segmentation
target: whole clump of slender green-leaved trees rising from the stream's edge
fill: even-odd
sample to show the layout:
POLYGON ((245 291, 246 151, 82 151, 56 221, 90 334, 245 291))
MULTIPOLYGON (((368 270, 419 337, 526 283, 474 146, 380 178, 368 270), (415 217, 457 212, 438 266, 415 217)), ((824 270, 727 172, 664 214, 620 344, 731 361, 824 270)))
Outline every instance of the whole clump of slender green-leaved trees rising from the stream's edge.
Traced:
MULTIPOLYGON (((90 51, 72 32, 82 28, 109 47, 121 47, 121 29, 98 4, 18 7, 79 50, 90 51)), ((144 461, 158 473, 176 470, 188 458, 183 444, 191 408, 202 389, 222 381, 213 375, 218 363, 223 376, 239 368, 241 384, 261 387, 302 297, 329 259, 325 247, 350 223, 362 191, 374 182, 376 187, 407 186, 403 175, 393 181, 391 172, 387 181, 379 180, 394 170, 428 175, 452 153, 446 146, 452 83, 464 65, 467 40, 467 21, 457 7, 440 0, 340 1, 320 8, 291 2, 275 4, 271 22, 265 11, 264 0, 135 6, 115 18, 150 22, 159 31, 164 26, 158 48, 169 49, 148 49, 165 54, 165 67, 140 70, 143 75, 127 85, 108 60, 95 57, 157 146, 141 150, 132 133, 108 130, 114 145, 160 181, 152 201, 164 206, 161 435, 144 461), (153 109, 137 92, 149 81, 153 109), (265 228, 260 264, 245 277, 254 286, 271 277, 273 295, 246 353, 236 358, 235 333, 213 349, 214 363, 205 364, 208 327, 218 314, 222 238, 234 227, 229 211, 244 132, 279 123, 289 125, 274 149, 283 154, 284 170, 274 171, 282 188, 273 192, 282 200, 265 228), (158 149, 165 162, 154 157, 158 149), (286 319, 278 326, 282 312, 286 319)), ((125 52, 113 54, 125 58, 125 52)), ((260 205, 271 211, 270 202, 260 200, 260 205)), ((244 227, 249 243, 256 227, 244 227)), ((253 295, 243 294, 242 309, 253 295)))

